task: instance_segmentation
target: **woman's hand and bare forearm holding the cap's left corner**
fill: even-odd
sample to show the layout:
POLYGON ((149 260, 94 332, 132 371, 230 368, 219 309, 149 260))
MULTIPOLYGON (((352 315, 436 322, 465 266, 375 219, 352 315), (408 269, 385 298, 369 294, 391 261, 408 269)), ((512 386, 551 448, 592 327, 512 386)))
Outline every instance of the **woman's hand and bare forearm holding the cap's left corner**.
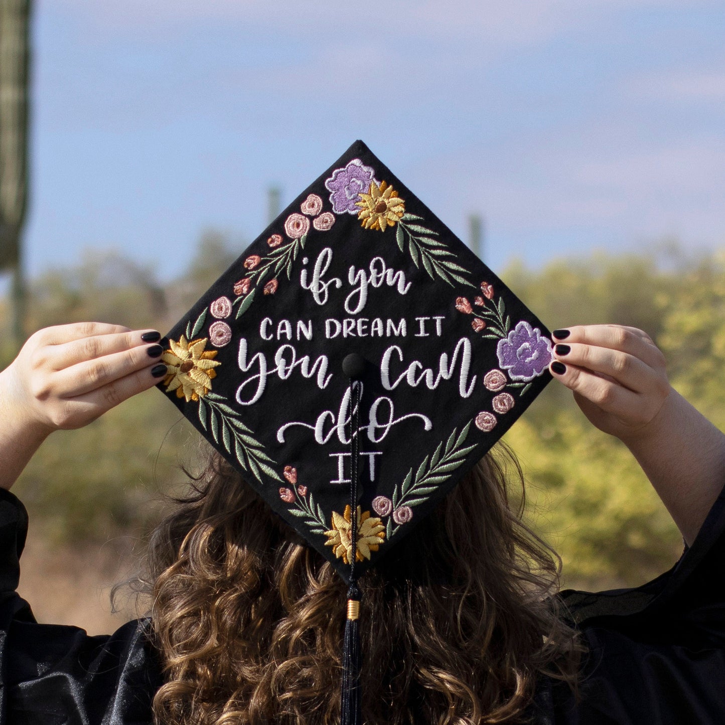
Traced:
POLYGON ((0 373, 0 486, 59 428, 80 428, 166 373, 160 334, 103 323, 50 327, 0 373))

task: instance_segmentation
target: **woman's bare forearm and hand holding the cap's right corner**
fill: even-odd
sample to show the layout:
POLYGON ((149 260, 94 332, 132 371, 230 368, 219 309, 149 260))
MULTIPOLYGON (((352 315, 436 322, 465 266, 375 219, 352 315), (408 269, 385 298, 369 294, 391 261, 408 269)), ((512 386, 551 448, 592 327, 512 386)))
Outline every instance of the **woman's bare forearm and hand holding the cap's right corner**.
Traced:
POLYGON ((641 330, 555 330, 550 365, 597 428, 621 439, 692 544, 725 483, 725 436, 668 383, 665 358, 641 330))

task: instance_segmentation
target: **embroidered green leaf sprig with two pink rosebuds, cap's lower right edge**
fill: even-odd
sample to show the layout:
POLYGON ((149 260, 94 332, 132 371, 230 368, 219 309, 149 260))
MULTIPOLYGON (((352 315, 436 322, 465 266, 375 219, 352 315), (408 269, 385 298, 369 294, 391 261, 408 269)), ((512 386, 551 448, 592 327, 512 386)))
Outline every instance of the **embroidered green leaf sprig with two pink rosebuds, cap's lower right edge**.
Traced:
MULTIPOLYGON (((400 527, 413 518, 413 507, 425 503, 431 497, 431 494, 442 486, 444 481, 450 479, 453 471, 464 463, 465 457, 476 447, 476 444, 464 445, 470 428, 471 423, 468 423, 460 431, 460 434, 457 428, 453 428, 445 444, 441 441, 432 455, 426 455, 415 474, 413 468, 411 468, 402 484, 395 485, 392 500, 386 499, 393 511, 393 515, 388 518, 386 523, 386 537, 388 539, 394 537, 400 527)), ((381 496, 379 498, 385 497, 381 496)), ((373 510, 375 510, 377 500, 378 497, 373 501, 373 510)), ((383 508, 383 503, 381 502, 378 505, 383 508)), ((384 510, 388 510, 387 506, 385 506, 384 510)), ((376 510, 376 513, 378 513, 378 510, 376 510)), ((385 516, 387 514, 380 513, 379 515, 385 516)))

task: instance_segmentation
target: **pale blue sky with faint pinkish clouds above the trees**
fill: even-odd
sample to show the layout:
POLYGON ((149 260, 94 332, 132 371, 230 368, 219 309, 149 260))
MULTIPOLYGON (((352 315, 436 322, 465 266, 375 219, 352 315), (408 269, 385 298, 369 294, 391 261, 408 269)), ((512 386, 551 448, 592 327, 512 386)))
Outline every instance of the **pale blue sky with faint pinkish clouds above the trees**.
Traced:
POLYGON ((30 273, 251 241, 356 138, 486 261, 725 243, 725 6, 45 0, 30 273))

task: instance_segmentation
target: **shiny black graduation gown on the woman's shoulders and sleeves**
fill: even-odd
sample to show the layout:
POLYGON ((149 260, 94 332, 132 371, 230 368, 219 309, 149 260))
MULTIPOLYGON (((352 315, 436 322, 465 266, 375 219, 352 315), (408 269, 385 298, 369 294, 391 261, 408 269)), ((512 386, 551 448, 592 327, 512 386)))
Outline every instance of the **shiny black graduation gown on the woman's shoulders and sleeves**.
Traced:
MULTIPOLYGON (((37 624, 16 593, 28 516, 0 489, 0 725, 150 724, 149 620, 110 637, 37 624)), ((537 725, 725 724, 725 491, 691 548, 636 589, 563 592, 589 647, 577 700, 542 679, 537 725)))

